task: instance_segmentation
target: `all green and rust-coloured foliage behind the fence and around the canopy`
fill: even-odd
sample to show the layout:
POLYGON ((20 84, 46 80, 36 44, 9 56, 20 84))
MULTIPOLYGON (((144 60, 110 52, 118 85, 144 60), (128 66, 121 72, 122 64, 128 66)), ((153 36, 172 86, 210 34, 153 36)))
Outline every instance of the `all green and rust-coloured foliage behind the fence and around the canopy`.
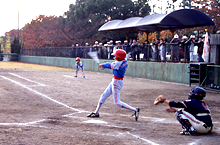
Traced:
MULTIPOLYGON (((185 1, 187 2, 187 1, 185 1)), ((208 27, 209 33, 216 33, 220 29, 220 4, 218 0, 193 0, 193 9, 198 9, 207 14, 215 22, 216 26, 208 27)), ((98 29, 106 22, 115 19, 129 17, 144 17, 151 11, 147 0, 77 0, 69 5, 69 10, 63 16, 39 15, 35 20, 26 24, 18 33, 18 30, 8 32, 13 39, 19 37, 22 48, 49 48, 70 47, 72 44, 93 44, 94 41, 105 43, 112 40, 124 40, 125 35, 112 32, 99 32, 98 29)), ((198 35, 204 33, 207 27, 176 30, 179 36, 191 35, 198 31, 198 35)), ((148 40, 163 38, 171 40, 172 33, 169 30, 148 34, 148 40)), ((131 36, 131 35, 130 35, 131 36)), ((147 39, 146 33, 139 33, 139 43, 147 39)))

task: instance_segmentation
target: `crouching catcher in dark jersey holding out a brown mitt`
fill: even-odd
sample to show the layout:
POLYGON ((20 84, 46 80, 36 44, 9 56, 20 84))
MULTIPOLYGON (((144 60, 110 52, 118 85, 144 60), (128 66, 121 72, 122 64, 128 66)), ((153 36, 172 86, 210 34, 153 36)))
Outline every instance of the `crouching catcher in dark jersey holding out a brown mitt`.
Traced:
POLYGON ((188 100, 174 102, 166 100, 163 95, 160 95, 155 99, 154 104, 165 102, 170 106, 169 109, 166 109, 167 112, 176 112, 175 116, 183 128, 180 134, 205 134, 211 132, 213 128, 210 110, 202 101, 205 96, 206 91, 203 88, 195 87, 191 89, 188 100), (183 109, 177 111, 172 107, 183 109))

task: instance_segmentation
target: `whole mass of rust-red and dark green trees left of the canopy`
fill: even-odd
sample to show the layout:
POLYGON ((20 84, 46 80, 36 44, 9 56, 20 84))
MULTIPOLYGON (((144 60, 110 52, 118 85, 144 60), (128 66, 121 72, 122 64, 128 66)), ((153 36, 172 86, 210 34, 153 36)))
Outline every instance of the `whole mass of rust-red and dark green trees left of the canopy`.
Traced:
POLYGON ((76 0, 64 16, 40 15, 21 30, 23 48, 63 47, 73 43, 105 43, 125 39, 124 34, 98 32, 106 22, 150 12, 148 0, 76 0))

